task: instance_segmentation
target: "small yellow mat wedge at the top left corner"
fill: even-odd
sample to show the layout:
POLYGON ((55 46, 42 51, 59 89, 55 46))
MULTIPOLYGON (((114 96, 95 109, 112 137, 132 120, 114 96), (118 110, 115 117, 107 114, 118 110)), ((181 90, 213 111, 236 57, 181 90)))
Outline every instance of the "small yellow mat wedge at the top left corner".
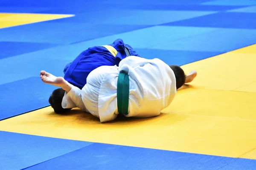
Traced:
POLYGON ((74 15, 67 14, 16 14, 16 13, 0 13, 0 28, 11 26, 19 26, 30 23, 37 23, 47 20, 55 20, 74 15))

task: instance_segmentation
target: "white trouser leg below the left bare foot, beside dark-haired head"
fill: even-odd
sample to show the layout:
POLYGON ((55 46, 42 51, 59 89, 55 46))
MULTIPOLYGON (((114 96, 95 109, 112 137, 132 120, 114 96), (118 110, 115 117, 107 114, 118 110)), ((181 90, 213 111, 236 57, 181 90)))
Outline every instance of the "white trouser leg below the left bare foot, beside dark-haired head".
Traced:
POLYGON ((84 102, 82 101, 81 90, 73 85, 68 93, 65 92, 61 106, 62 108, 79 108, 81 111, 87 112, 84 102))

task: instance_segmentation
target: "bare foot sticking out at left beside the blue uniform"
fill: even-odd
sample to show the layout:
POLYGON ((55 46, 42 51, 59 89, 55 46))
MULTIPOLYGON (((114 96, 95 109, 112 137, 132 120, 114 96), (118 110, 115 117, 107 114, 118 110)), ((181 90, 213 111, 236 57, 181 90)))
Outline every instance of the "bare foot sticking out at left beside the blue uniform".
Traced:
POLYGON ((47 73, 46 71, 40 72, 40 78, 44 83, 55 85, 57 87, 66 85, 66 81, 63 77, 56 77, 52 74, 47 73))

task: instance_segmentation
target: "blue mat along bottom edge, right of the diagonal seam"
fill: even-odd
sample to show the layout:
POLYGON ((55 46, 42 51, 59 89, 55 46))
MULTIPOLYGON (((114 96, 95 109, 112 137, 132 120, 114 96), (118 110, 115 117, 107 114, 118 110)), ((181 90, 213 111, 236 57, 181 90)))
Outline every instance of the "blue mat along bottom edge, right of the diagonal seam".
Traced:
POLYGON ((95 143, 26 170, 218 170, 228 164, 255 167, 256 160, 95 143))

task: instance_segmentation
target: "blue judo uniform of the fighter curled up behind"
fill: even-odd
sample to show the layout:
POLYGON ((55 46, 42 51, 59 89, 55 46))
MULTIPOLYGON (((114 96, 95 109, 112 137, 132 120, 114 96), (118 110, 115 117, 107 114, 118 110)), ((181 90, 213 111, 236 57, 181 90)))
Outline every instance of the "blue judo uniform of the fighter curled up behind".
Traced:
POLYGON ((64 79, 70 84, 82 89, 86 84, 86 79, 91 71, 102 65, 119 65, 119 62, 129 56, 125 52, 128 50, 130 56, 139 56, 133 48, 125 44, 122 39, 115 40, 111 45, 116 49, 114 57, 107 48, 94 46, 81 52, 73 62, 68 63, 64 68, 64 79))

